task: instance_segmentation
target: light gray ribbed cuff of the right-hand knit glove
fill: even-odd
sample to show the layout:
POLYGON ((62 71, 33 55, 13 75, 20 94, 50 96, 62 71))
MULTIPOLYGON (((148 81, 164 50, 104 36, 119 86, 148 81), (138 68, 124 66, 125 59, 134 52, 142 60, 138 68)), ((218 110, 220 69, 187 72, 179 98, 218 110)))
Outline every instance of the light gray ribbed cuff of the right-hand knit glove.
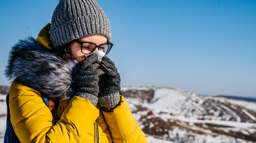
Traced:
POLYGON ((115 106, 120 102, 119 92, 98 97, 98 103, 101 107, 115 106))

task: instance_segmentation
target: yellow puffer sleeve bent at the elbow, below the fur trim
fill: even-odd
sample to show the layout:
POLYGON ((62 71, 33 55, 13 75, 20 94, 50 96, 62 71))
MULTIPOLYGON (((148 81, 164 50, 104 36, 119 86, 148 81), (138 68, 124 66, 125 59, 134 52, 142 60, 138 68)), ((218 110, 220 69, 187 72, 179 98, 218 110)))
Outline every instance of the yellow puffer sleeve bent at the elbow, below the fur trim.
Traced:
POLYGON ((16 83, 10 87, 10 113, 13 129, 23 143, 78 143, 99 116, 89 100, 75 96, 55 123, 40 93, 16 83))

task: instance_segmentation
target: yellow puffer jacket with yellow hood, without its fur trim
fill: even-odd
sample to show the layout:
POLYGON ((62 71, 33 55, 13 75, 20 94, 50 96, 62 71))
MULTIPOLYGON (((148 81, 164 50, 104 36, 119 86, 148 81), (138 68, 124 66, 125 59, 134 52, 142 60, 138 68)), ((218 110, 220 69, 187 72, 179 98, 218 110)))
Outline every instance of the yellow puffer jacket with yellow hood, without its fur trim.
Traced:
MULTIPOLYGON (((48 29, 49 24, 42 31, 48 29)), ((42 31, 37 41, 47 47, 50 43, 42 31)), ((52 115, 39 91, 14 80, 9 99, 11 123, 22 143, 96 143, 96 136, 99 143, 148 143, 124 97, 120 98, 115 109, 104 112, 99 105, 75 96, 59 103, 52 115)))

